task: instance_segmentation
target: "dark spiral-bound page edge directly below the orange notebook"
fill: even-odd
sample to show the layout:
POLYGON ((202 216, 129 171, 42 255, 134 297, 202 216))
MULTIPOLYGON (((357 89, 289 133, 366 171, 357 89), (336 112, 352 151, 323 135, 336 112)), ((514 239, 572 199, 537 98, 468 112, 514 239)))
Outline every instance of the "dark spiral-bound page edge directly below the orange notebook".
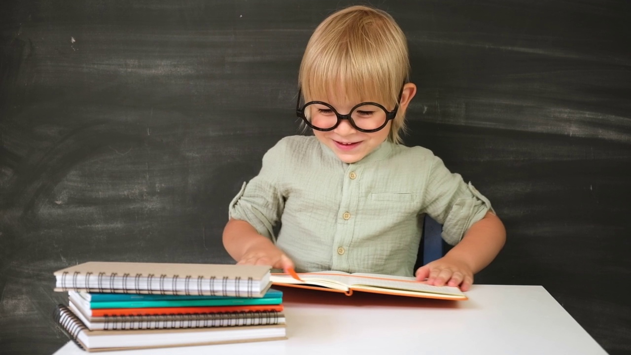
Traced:
POLYGON ((186 316, 106 316, 104 330, 171 329, 277 325, 278 312, 235 312, 186 316), (170 318, 170 319, 168 319, 170 318))

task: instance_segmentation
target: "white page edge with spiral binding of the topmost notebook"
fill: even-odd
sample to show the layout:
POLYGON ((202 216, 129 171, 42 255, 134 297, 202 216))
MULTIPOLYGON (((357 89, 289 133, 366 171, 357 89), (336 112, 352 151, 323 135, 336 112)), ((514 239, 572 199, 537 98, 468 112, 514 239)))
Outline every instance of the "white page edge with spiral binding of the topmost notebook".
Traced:
MULTIPOLYGON (((63 272, 57 279, 59 291, 184 294, 187 296, 260 297, 254 293, 254 279, 247 277, 192 277, 186 275, 122 274, 116 272, 63 272), (240 286, 245 285, 245 291, 240 286)), ((56 291, 57 291, 56 289, 56 291)))

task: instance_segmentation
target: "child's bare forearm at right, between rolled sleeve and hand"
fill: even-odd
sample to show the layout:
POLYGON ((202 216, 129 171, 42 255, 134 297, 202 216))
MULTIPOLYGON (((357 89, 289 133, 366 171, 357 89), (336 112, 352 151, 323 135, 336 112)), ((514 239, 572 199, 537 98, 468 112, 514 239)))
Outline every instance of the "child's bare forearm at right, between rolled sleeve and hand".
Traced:
POLYGON ((493 261, 505 241, 504 224, 497 215, 488 212, 464 233, 460 243, 445 256, 463 261, 476 274, 493 261))

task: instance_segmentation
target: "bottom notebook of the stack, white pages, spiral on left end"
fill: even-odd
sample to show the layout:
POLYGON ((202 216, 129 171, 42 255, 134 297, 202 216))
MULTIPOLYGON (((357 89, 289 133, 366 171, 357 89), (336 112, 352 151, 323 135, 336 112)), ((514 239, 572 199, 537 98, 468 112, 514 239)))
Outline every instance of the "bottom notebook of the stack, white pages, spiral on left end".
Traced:
POLYGON ((59 304, 56 322, 86 351, 225 344, 286 339, 284 324, 148 330, 89 330, 66 306, 59 304))

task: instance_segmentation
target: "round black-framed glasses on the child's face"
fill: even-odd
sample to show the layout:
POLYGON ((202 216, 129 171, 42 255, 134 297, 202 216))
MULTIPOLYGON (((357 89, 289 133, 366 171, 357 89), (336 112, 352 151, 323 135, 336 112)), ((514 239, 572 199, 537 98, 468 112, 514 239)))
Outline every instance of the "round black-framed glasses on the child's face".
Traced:
MULTIPOLYGON (((403 88, 401 88, 403 93, 403 88)), ((399 102, 401 101, 399 93, 399 102)), ((298 102, 296 103, 296 115, 307 124, 307 126, 317 131, 332 131, 343 119, 348 119, 348 123, 360 132, 371 133, 386 127, 388 121, 396 117, 399 104, 394 106, 392 111, 387 111, 376 102, 362 102, 355 105, 348 114, 340 114, 333 106, 322 101, 310 101, 300 107, 302 89, 298 91, 298 102)))

